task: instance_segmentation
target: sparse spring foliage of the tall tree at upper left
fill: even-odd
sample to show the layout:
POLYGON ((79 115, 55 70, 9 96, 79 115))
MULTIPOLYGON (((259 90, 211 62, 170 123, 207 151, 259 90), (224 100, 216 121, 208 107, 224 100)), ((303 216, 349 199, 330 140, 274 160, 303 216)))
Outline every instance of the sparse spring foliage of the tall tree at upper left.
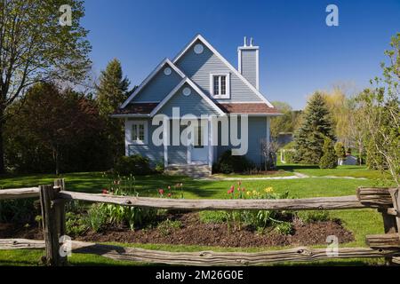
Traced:
POLYGON ((7 108, 28 86, 59 80, 80 83, 91 65, 81 0, 0 1, 0 172, 4 171, 3 123, 7 108), (70 26, 59 23, 62 4, 71 7, 70 26))

